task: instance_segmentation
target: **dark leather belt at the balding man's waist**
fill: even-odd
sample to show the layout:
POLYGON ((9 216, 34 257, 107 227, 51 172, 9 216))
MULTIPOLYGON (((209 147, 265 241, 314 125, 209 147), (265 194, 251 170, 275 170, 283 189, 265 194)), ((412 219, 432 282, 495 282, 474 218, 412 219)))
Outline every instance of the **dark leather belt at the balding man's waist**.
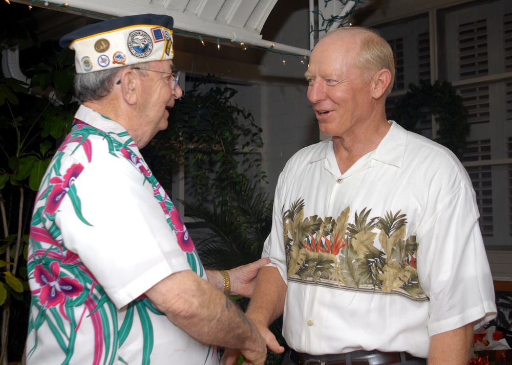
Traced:
MULTIPOLYGON (((408 352, 403 352, 405 360, 420 359, 408 352)), ((326 355, 326 356, 310 356, 291 351, 290 359, 296 365, 390 365, 401 363, 400 352, 378 352, 378 351, 355 351, 351 354, 326 355), (350 362, 346 360, 350 356, 350 362), (336 359, 336 357, 338 357, 336 359)))

